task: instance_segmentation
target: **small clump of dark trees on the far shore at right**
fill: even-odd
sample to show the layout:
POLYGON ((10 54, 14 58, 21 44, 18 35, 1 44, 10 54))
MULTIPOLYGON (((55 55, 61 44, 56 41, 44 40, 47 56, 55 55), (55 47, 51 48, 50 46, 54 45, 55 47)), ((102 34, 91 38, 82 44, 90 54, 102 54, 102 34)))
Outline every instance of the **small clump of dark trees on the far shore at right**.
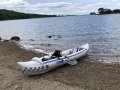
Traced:
POLYGON ((107 8, 99 8, 98 13, 99 14, 118 14, 118 13, 120 13, 120 9, 111 10, 111 9, 107 9, 107 8))

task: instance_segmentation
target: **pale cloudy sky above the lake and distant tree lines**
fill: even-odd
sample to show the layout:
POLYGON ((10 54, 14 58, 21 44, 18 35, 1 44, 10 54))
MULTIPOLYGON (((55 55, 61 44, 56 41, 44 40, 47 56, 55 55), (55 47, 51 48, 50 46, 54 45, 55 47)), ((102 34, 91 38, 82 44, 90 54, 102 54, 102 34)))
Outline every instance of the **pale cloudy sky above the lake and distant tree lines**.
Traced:
POLYGON ((101 7, 120 9, 120 0, 0 0, 0 9, 49 15, 84 15, 101 7))

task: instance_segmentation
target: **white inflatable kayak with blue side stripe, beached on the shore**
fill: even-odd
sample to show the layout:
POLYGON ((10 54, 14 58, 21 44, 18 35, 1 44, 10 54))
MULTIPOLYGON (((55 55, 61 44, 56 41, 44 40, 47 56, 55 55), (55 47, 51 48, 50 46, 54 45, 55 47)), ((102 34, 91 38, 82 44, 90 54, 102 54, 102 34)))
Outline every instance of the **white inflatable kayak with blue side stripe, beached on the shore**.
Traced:
POLYGON ((34 57, 31 61, 17 62, 17 64, 21 67, 21 70, 26 75, 42 74, 64 64, 75 65, 77 63, 76 60, 84 57, 88 50, 89 45, 85 44, 79 48, 62 51, 64 55, 59 58, 51 59, 49 58, 50 56, 44 56, 41 58, 34 57), (49 59, 42 61, 42 59, 45 57, 49 59))

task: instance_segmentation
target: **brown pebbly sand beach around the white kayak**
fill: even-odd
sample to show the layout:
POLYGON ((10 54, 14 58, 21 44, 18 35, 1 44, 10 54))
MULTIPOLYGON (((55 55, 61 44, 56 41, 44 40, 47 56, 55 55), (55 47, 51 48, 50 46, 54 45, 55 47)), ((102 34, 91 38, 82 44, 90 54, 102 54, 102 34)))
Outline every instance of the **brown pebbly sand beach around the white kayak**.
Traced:
POLYGON ((48 73, 25 76, 16 64, 44 54, 0 41, 0 90, 120 90, 120 65, 82 58, 48 73))

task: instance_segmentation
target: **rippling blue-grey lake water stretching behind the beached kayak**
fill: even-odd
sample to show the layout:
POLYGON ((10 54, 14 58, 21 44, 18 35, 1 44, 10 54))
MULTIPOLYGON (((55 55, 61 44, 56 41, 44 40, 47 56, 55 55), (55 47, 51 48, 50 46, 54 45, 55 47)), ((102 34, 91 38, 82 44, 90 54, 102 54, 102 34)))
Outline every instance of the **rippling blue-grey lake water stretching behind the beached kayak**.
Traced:
POLYGON ((120 14, 0 21, 0 36, 46 52, 89 43, 89 58, 120 62, 120 14))

